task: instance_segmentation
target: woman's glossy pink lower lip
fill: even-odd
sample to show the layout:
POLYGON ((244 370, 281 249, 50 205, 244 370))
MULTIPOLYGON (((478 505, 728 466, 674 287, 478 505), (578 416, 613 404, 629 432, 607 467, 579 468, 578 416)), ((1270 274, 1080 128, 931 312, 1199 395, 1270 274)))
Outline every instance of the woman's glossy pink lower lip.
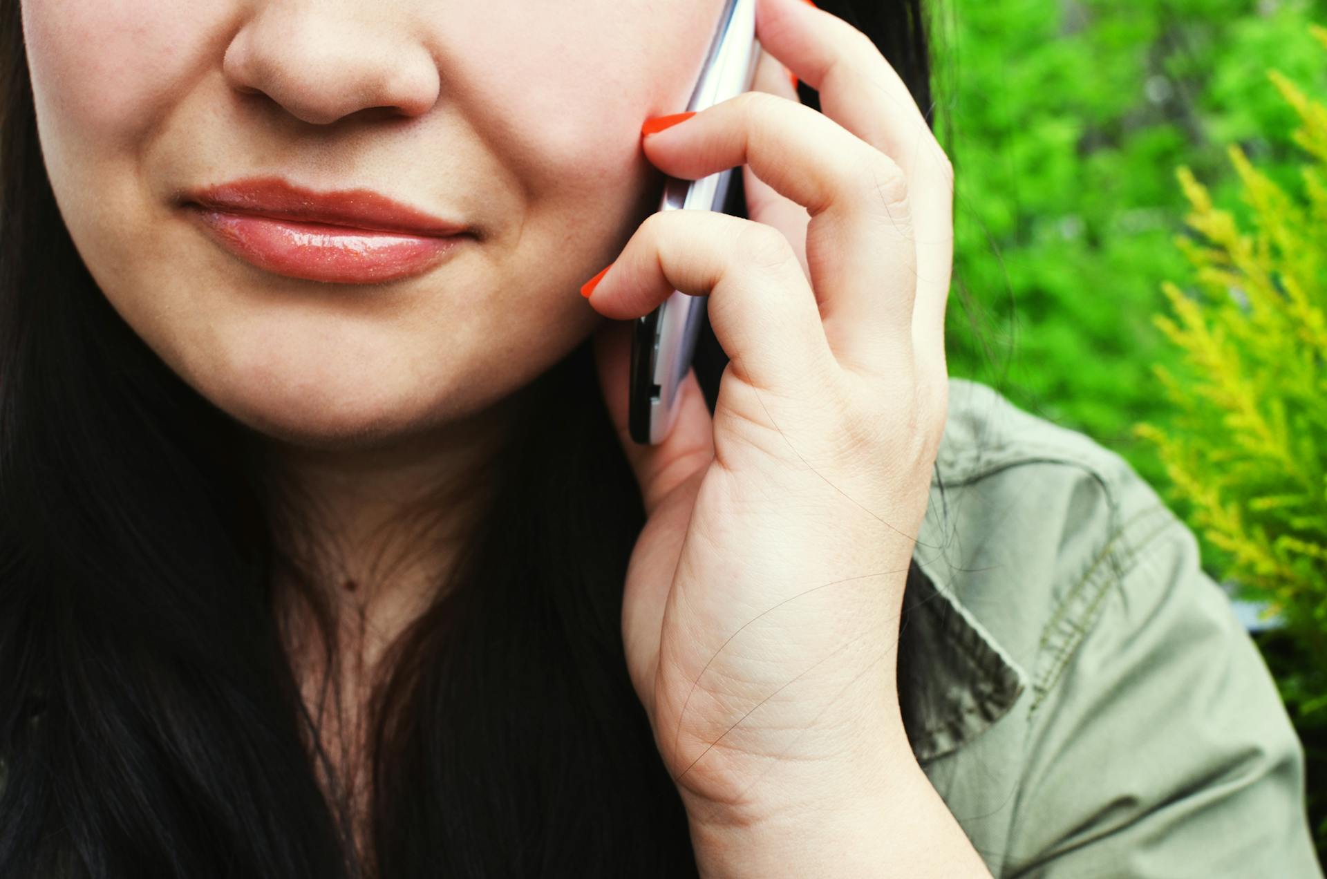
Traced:
POLYGON ((456 248, 447 236, 377 232, 196 208, 216 242, 259 268, 333 284, 377 284, 421 275, 456 248))

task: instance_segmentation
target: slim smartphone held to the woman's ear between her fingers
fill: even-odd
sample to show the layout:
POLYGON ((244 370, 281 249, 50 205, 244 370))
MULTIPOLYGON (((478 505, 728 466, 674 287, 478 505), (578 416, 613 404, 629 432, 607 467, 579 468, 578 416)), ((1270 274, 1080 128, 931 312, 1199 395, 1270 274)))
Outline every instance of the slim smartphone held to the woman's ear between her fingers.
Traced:
MULTIPOLYGON (((760 44, 755 39, 755 0, 727 0, 687 110, 703 110, 751 90, 760 44)), ((698 181, 666 178, 661 211, 722 211, 730 167, 698 181)), ((695 337, 707 296, 673 291, 658 308, 636 320, 632 335, 628 428, 640 445, 662 442, 677 420, 678 389, 691 368, 695 337)))

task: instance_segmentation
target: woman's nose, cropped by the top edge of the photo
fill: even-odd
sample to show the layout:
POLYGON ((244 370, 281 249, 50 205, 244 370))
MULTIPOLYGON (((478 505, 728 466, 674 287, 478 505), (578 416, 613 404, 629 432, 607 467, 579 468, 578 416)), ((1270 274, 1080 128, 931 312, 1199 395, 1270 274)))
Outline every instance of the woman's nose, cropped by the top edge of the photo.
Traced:
POLYGON ((369 108, 426 113, 438 100, 433 54, 377 3, 269 3, 240 28, 222 64, 239 92, 329 125, 369 108))

